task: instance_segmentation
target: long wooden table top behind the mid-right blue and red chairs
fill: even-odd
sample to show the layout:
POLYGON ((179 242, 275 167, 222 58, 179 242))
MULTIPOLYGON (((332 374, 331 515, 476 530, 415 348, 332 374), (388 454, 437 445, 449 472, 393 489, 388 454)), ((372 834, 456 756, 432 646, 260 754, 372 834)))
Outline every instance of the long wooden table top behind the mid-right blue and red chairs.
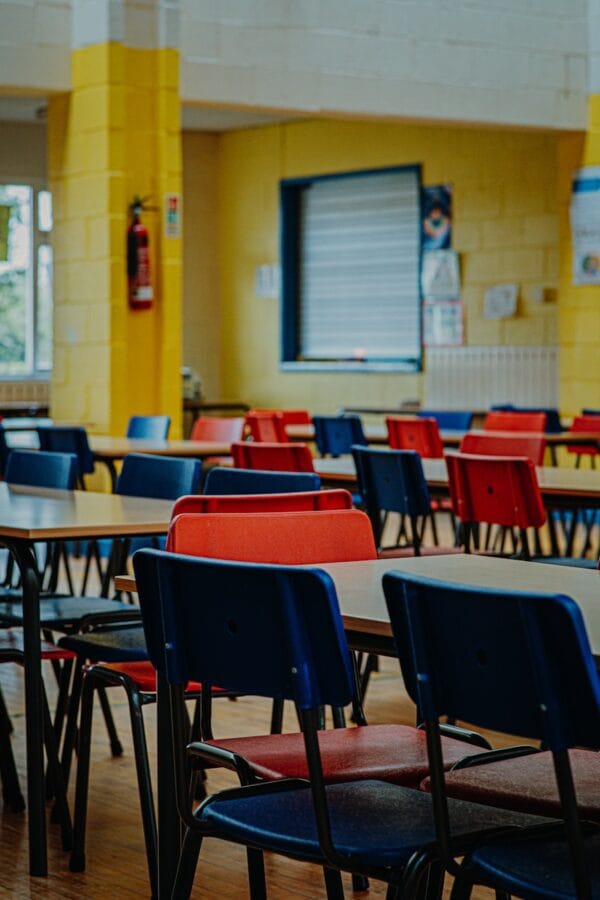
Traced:
MULTIPOLYGON (((356 486, 356 469, 351 456, 337 459, 315 459, 315 471, 326 481, 356 486)), ((424 459, 423 471, 431 488, 447 490, 448 472, 443 459, 424 459)), ((600 470, 567 469, 542 466, 536 469, 538 484, 545 499, 565 499, 600 502, 600 470)))

